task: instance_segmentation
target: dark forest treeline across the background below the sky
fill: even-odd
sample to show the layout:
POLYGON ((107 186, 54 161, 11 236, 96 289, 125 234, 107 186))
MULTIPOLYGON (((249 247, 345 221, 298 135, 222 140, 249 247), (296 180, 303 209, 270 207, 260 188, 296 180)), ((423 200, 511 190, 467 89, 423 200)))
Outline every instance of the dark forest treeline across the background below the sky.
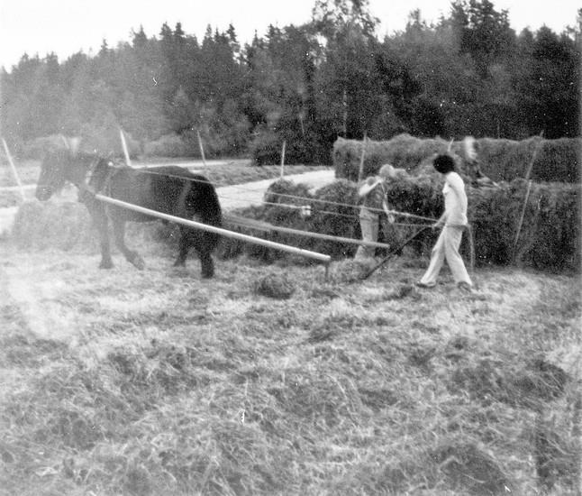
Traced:
POLYGON ((330 163, 339 136, 573 137, 581 13, 561 33, 516 33, 488 0, 457 0, 379 39, 368 0, 315 0, 309 23, 244 45, 233 25, 202 40, 181 23, 140 28, 94 55, 2 69, 2 134, 23 150, 59 133, 119 141, 121 127, 140 153, 174 157, 198 156, 200 134, 207 157, 258 163, 277 163, 283 142, 287 163, 330 163))

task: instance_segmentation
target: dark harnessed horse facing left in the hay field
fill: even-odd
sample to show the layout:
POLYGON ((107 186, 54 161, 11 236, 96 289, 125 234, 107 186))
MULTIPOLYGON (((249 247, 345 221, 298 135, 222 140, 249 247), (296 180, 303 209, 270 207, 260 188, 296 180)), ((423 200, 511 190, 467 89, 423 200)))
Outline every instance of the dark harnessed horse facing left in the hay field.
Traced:
MULTIPOLYGON (((207 225, 222 225, 221 207, 214 186, 204 176, 182 167, 164 166, 138 170, 127 166, 114 166, 111 161, 93 154, 52 152, 42 161, 36 197, 41 201, 48 200, 67 181, 79 189, 79 201, 85 204, 99 231, 102 257, 99 267, 102 269, 113 267, 109 246, 109 219, 114 228, 116 246, 129 262, 138 269, 143 269, 145 264, 139 253, 125 245, 125 222, 151 222, 155 218, 105 204, 95 198, 97 193, 171 216, 207 225)), ((219 239, 220 234, 180 225, 179 253, 174 265, 185 265, 188 251, 194 248, 200 258, 202 277, 213 277, 214 262, 211 253, 219 239)))

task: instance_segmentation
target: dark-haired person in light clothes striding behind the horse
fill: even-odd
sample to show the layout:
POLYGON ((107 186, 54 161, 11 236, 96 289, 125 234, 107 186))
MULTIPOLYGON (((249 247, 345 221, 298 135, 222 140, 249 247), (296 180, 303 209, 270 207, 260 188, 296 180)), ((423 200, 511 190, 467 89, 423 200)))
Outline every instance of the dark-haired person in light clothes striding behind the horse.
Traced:
POLYGON ((468 276, 463 259, 459 255, 461 237, 463 231, 468 227, 465 183, 455 172, 455 161, 450 155, 438 155, 432 161, 432 165, 437 172, 445 177, 444 188, 442 188, 444 213, 433 225, 433 227, 442 227, 442 231, 434 248, 432 248, 429 268, 424 273, 423 279, 416 284, 421 288, 433 288, 446 259, 459 289, 470 291, 473 282, 468 276))

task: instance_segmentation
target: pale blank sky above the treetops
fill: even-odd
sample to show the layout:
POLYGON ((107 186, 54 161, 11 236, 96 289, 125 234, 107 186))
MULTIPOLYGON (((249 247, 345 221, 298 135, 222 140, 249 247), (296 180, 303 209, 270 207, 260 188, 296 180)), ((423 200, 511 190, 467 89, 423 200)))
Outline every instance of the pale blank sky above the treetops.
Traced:
MULTIPOLYGON (((201 40, 206 26, 225 31, 232 23, 239 41, 263 36, 268 24, 283 27, 311 19, 314 0, 0 0, 0 66, 10 70, 24 53, 41 58, 50 52, 67 60, 83 51, 94 55, 105 39, 109 47, 131 41, 143 26, 148 37, 161 25, 182 23, 188 35, 201 40)), ((507 10, 512 28, 520 32, 542 25, 554 32, 576 24, 579 0, 492 0, 507 10)), ((369 11, 380 19, 378 36, 404 29, 408 14, 421 10, 428 23, 450 13, 450 0, 369 0, 369 11)))

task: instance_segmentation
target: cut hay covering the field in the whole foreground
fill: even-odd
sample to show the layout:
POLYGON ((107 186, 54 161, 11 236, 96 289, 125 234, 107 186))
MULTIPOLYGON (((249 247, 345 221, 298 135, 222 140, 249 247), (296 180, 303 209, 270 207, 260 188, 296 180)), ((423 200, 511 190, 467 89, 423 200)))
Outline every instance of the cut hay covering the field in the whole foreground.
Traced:
POLYGON ((0 242, 0 493, 577 494, 579 278, 142 250, 0 242))

